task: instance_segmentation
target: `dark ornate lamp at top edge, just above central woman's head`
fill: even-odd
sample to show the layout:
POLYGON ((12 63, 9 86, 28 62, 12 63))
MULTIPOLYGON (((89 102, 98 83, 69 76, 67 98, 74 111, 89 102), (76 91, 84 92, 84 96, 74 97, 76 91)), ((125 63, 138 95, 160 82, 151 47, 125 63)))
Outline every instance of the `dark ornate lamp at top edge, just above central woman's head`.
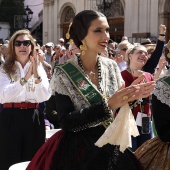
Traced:
POLYGON ((110 7, 114 0, 96 0, 98 10, 105 14, 107 17, 110 15, 110 7))

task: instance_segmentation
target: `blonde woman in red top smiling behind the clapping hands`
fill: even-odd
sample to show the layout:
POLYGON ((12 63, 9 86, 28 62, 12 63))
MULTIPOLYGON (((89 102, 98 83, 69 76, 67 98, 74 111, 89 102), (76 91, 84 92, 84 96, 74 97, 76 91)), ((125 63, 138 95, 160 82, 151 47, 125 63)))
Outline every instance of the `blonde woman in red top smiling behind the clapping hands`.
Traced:
MULTIPOLYGON (((127 51, 127 59, 128 68, 121 72, 126 87, 133 84, 134 81, 140 84, 154 80, 150 73, 142 71, 142 68, 148 61, 148 53, 144 46, 138 45, 129 49, 127 51), (138 81, 141 76, 143 76, 143 79, 138 81)), ((132 150, 135 151, 146 140, 151 139, 152 137, 150 98, 143 98, 141 101, 132 102, 132 104, 134 118, 136 120, 140 119, 141 122, 142 120, 147 119, 146 123, 148 123, 147 127, 144 124, 138 124, 140 135, 135 138, 132 137, 132 150), (144 131, 145 128, 148 128, 147 131, 144 131)))

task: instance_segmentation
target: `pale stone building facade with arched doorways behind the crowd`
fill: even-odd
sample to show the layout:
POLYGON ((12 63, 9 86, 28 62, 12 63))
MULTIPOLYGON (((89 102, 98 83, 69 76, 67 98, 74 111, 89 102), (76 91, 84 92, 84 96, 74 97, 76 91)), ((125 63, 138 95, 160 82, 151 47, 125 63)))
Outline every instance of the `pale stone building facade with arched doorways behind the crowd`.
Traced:
MULTIPOLYGON (((97 0, 44 0, 43 44, 65 38, 72 18, 85 9, 99 9, 97 0)), ((130 42, 140 42, 142 37, 157 39, 159 25, 167 26, 166 40, 170 39, 170 0, 113 0, 105 9, 110 25, 110 36, 120 42, 123 35, 130 42)))

